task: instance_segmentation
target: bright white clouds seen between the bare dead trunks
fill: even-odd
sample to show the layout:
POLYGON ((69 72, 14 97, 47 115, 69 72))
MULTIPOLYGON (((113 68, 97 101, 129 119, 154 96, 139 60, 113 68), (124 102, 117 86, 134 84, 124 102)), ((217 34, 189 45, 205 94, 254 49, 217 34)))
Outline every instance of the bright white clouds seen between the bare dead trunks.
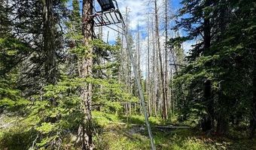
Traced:
MULTIPOLYGON (((125 19, 125 13, 126 13, 126 7, 128 8, 129 11, 129 28, 130 31, 134 37, 134 43, 136 44, 136 31, 138 28, 139 24, 139 31, 141 34, 141 66, 140 68, 142 69, 142 74, 145 77, 145 72, 147 69, 147 55, 148 55, 148 35, 145 34, 147 30, 147 13, 153 13, 154 9, 154 4, 151 2, 151 4, 148 5, 148 0, 117 0, 117 4, 120 9, 120 13, 123 14, 123 19, 125 19)), ((163 6, 163 1, 158 1, 158 6, 163 6)), ((159 9, 159 13, 162 14, 160 15, 160 24, 163 23, 163 10, 159 9)), ((151 19, 150 19, 151 20, 151 19)), ((153 19, 154 20, 154 19, 153 19)), ((119 25, 121 26, 121 25, 119 25)), ((115 25, 112 25, 111 28, 117 29, 115 25)), ((109 43, 114 43, 117 37, 117 32, 112 30, 111 28, 103 27, 103 40, 107 40, 109 43), (107 36, 108 35, 108 36, 107 36)), ((96 29, 97 30, 97 29, 96 29)), ((164 37, 164 31, 163 31, 163 26, 160 26, 160 45, 161 49, 164 49, 164 42, 165 42, 165 37, 164 37)), ((169 31, 169 37, 170 37, 170 31, 169 31)), ((151 37, 150 37, 151 38, 151 37)), ((189 49, 191 49, 191 45, 193 44, 193 41, 187 41, 183 43, 184 51, 185 53, 188 52, 189 49)), ((155 49, 151 49, 155 50, 155 49)))

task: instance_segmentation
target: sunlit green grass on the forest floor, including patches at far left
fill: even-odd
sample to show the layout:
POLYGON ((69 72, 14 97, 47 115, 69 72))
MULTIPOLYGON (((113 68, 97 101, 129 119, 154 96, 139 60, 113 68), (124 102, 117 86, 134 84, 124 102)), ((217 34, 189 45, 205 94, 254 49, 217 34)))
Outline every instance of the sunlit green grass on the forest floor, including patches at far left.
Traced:
MULTIPOLYGON (((16 119, 16 118, 15 118, 16 119)), ((14 118, 5 118, 9 122, 14 118)), ((113 115, 93 112, 97 150, 151 149, 145 118, 141 115, 113 115)), ((154 126, 169 124, 161 118, 149 118, 157 150, 256 150, 256 139, 246 139, 241 130, 230 130, 230 136, 208 136, 197 128, 159 129, 154 126), (235 136, 232 136, 235 135, 235 136)), ((173 119, 172 119, 173 120, 173 119)), ((178 122, 176 122, 178 124, 178 122)), ((27 149, 35 133, 26 132, 23 126, 0 128, 0 149, 27 149)), ((75 136, 75 135, 73 135, 75 136)), ((63 139, 65 149, 78 149, 71 142, 73 136, 63 139)))

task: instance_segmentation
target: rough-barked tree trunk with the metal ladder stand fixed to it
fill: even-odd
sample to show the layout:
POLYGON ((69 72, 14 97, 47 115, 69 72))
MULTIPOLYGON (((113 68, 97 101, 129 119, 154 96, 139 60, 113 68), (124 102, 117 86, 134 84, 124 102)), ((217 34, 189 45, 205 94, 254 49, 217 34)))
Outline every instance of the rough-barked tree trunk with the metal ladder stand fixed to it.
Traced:
MULTIPOLYGON (((90 15, 93 13, 93 0, 83 1, 83 35, 84 46, 89 46, 87 53, 81 58, 81 65, 79 68, 80 77, 88 78, 92 77, 93 68, 93 47, 90 47, 89 42, 93 40, 93 20, 90 15)), ((93 132, 92 132, 92 115, 91 115, 91 103, 92 103, 92 90, 91 83, 84 83, 81 89, 81 101, 84 111, 84 124, 81 124, 81 142, 82 149, 93 149, 93 132)))

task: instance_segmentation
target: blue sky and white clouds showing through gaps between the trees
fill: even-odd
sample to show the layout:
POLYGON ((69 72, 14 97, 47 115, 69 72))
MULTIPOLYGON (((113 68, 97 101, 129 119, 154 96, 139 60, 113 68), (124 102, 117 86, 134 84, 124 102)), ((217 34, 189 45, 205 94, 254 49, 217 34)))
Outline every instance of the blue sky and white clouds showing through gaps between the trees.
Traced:
MULTIPOLYGON (((70 0, 72 1, 72 0, 70 0)), ((159 13, 163 16, 163 9, 161 10, 161 6, 164 6, 165 0, 158 0, 158 7, 160 7, 159 13)), ((177 10, 181 7, 181 0, 168 0, 169 1, 169 13, 176 13, 177 10)), ((147 57, 147 40, 148 40, 148 34, 147 34, 147 13, 153 13, 153 7, 154 3, 152 0, 117 0, 117 4, 120 10, 120 13, 124 14, 126 12, 126 7, 129 10, 129 20, 130 20, 130 33, 133 35, 133 39, 136 39, 137 30, 139 28, 139 34, 140 34, 140 40, 141 40, 141 49, 142 49, 142 56, 141 56, 141 66, 143 76, 145 77, 146 72, 146 57, 147 57), (148 2, 148 1, 151 1, 148 2)), ((95 7, 96 10, 100 10, 98 2, 95 0, 95 7)), ((163 8, 163 7, 162 7, 163 8)), ((164 45, 164 31, 163 26, 161 26, 161 23, 163 23, 163 17, 160 18, 160 41, 161 45, 164 45)), ((173 22, 169 23, 169 28, 173 26, 173 22)), ((121 26, 121 25, 120 25, 121 26)), ((111 26, 112 28, 116 28, 115 26, 111 26)), ((95 28, 95 31, 99 31, 99 29, 95 28)), ((97 34, 97 33, 96 33, 97 34)), ((180 35, 184 35, 184 31, 179 31, 180 35)), ((114 44, 115 40, 117 38, 117 31, 112 30, 111 28, 104 27, 103 28, 103 40, 105 42, 114 44), (108 35, 108 36, 107 36, 108 35)), ((169 31, 169 37, 172 37, 173 34, 171 31, 169 31)), ((184 52, 187 53, 189 49, 191 49, 191 45, 193 44, 193 41, 188 41, 183 43, 184 52)))

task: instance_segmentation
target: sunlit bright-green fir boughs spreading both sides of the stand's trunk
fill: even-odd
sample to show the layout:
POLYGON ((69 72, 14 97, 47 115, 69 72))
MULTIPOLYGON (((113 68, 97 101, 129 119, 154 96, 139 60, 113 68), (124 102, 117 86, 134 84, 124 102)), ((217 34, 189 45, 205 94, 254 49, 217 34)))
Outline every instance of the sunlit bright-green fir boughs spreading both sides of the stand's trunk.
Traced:
MULTIPOLYGON (((62 77, 56 85, 45 86, 43 94, 34 95, 33 101, 10 101, 4 98, 1 106, 12 109, 20 105, 25 107, 26 117, 21 122, 27 125, 27 130, 35 129, 33 132, 41 137, 35 139, 35 146, 44 148, 51 145, 54 148, 59 146, 59 139, 66 138, 67 133, 76 132, 84 120, 79 89, 85 83, 100 86, 99 89, 94 89, 93 102, 100 104, 105 112, 120 112, 123 108, 120 101, 130 101, 132 98, 123 92, 122 86, 116 80, 62 77)), ((6 92, 3 93, 6 95, 6 92)), ((14 94, 17 92, 8 93, 10 97, 14 94)))

